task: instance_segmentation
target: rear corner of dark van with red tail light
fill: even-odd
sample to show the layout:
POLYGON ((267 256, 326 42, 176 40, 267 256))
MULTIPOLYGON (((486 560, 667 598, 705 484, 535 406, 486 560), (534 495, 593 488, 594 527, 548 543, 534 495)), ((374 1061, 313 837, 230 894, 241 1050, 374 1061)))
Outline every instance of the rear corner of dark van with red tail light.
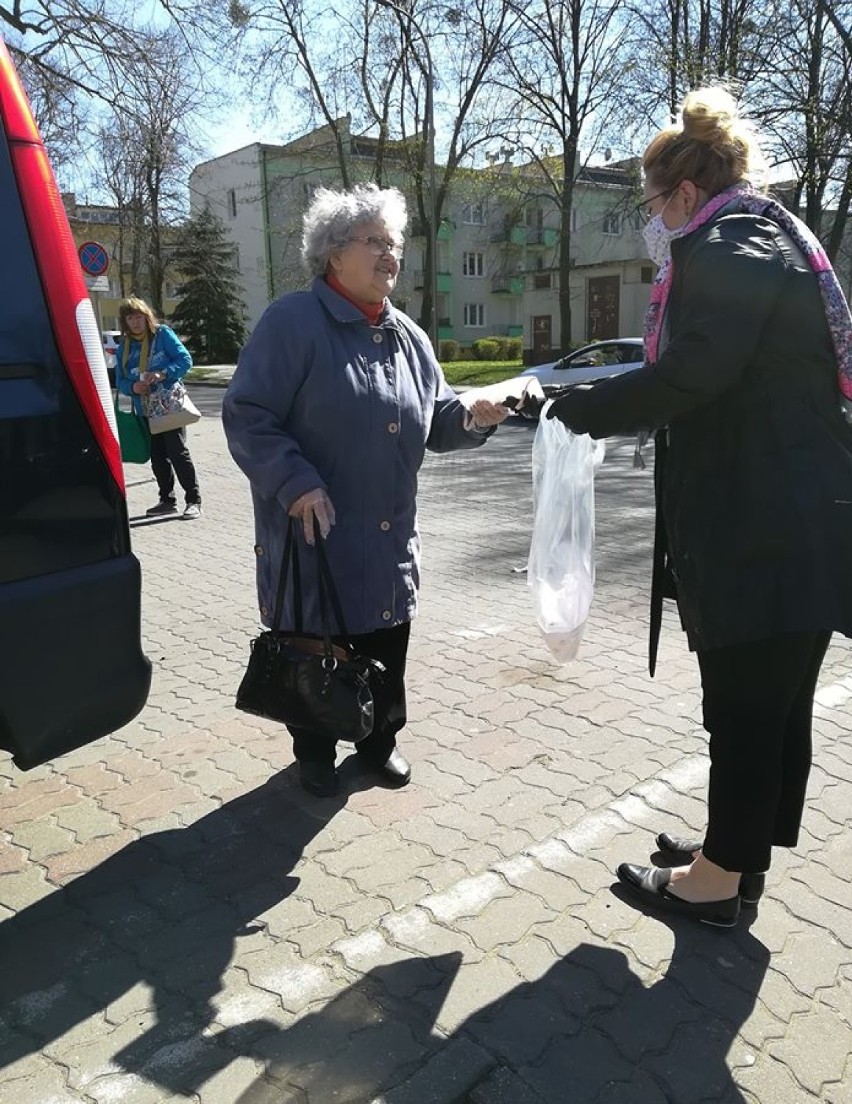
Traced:
POLYGON ((0 749, 22 769, 146 702, 139 563, 104 347, 0 42, 0 749))

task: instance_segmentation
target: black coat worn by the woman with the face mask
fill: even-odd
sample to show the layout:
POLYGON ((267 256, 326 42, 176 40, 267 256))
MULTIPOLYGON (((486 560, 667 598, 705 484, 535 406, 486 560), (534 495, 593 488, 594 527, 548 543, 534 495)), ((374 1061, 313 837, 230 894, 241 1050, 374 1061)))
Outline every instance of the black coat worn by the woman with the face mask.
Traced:
POLYGON ((658 554, 690 647, 852 636, 852 429, 817 279, 750 214, 675 241, 672 261, 657 364, 575 392, 565 421, 593 437, 668 426, 658 554))

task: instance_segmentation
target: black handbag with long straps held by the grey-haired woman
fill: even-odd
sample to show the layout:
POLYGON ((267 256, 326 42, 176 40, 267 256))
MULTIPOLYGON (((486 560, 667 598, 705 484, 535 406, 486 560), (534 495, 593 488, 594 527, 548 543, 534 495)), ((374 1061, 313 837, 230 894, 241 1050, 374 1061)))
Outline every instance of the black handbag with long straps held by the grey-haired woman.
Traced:
POLYGON ((290 518, 281 556, 273 628, 252 641, 248 668, 236 693, 236 708, 255 716, 308 729, 334 740, 358 743, 373 731, 371 676, 384 667, 359 656, 347 644, 331 639, 329 605, 340 636, 348 636, 334 583, 329 571, 317 519, 313 519, 322 639, 302 636, 302 593, 296 520, 290 518), (292 567, 294 633, 277 626, 284 609, 287 580, 292 567))

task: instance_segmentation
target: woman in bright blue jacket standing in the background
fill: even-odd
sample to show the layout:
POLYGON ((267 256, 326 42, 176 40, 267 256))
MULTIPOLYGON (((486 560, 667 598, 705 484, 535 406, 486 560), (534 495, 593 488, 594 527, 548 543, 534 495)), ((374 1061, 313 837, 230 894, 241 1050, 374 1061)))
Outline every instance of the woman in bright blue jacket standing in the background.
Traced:
MULTIPOLYGON (((145 415, 142 396, 173 386, 192 368, 192 358, 168 326, 157 321, 145 299, 125 299, 118 308, 121 339, 116 349, 116 386, 131 395, 134 410, 145 415)), ((160 500, 147 511, 149 518, 178 512, 174 477, 183 488, 183 518, 201 517, 201 492, 195 465, 187 448, 185 429, 168 429, 151 436, 151 467, 160 500)))

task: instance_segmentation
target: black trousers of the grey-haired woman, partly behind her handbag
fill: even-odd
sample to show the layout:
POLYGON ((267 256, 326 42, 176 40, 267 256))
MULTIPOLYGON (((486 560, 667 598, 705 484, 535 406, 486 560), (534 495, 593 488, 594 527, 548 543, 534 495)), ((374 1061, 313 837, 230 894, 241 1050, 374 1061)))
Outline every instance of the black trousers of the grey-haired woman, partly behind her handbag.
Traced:
MULTIPOLYGON (((385 666, 383 679, 374 679, 373 691, 374 724, 365 740, 355 744, 355 751, 371 766, 384 766, 387 756, 396 746, 396 733, 405 725, 405 659, 408 655, 411 624, 379 628, 374 633, 363 633, 347 637, 355 651, 377 659, 385 666)), ((341 637, 334 637, 341 641, 341 637)), ((337 741, 288 725, 292 736, 292 753, 300 762, 333 763, 337 741)))

